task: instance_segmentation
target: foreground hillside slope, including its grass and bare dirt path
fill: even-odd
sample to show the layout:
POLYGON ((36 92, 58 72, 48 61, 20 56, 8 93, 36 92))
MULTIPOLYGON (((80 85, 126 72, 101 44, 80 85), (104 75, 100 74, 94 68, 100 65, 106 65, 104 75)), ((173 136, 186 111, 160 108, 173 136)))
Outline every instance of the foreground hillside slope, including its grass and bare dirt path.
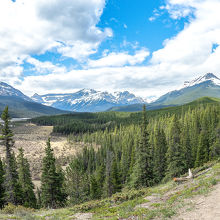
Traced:
POLYGON ((1 211, 1 219, 207 219, 219 218, 220 163, 193 170, 197 178, 176 184, 169 181, 151 188, 124 190, 104 200, 56 210, 1 211))

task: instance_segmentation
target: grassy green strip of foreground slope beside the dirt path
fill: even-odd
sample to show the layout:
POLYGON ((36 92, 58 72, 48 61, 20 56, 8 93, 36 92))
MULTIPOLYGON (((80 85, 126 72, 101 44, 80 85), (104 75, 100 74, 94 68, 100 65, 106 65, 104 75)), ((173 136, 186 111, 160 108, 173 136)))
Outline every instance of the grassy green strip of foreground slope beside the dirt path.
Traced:
MULTIPOLYGON (((151 188, 140 190, 125 189, 121 193, 114 194, 111 198, 89 201, 80 205, 69 206, 56 210, 25 209, 22 207, 9 207, 8 214, 0 212, 0 219, 51 219, 70 220, 74 219, 76 213, 93 213, 94 220, 119 219, 138 216, 139 219, 169 219, 185 207, 186 211, 194 209, 189 199, 196 195, 208 195, 213 187, 220 182, 220 162, 212 162, 201 167, 199 172, 212 166, 207 173, 187 181, 184 184, 177 184, 169 181, 151 188), (152 202, 145 199, 151 195, 160 196, 161 200, 152 202), (140 204, 150 204, 150 208, 138 207, 140 204)), ((148 197, 149 198, 149 197, 148 197)))

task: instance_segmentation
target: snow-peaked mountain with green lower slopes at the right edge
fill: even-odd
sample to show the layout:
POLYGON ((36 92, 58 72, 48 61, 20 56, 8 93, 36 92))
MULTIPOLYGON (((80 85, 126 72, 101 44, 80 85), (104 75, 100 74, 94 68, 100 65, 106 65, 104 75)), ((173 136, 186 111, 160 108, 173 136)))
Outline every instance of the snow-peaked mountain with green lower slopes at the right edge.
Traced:
POLYGON ((186 81, 180 89, 161 96, 151 104, 180 105, 203 96, 220 98, 220 79, 213 73, 207 73, 192 81, 186 81))

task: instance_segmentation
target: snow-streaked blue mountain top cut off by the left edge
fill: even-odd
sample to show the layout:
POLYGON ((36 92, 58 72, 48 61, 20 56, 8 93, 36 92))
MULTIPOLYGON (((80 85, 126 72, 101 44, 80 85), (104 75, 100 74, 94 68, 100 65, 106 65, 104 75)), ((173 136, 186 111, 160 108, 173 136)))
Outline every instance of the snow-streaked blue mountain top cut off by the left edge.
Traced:
POLYGON ((0 96, 13 96, 24 99, 26 101, 32 101, 28 96, 24 95, 21 91, 8 85, 7 83, 0 82, 0 96))

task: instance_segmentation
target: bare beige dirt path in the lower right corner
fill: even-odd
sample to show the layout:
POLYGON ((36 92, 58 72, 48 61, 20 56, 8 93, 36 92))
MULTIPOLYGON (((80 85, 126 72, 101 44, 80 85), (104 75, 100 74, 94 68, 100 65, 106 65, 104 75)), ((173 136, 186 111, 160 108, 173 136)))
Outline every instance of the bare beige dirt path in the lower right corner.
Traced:
POLYGON ((220 184, 207 196, 196 196, 193 210, 175 216, 175 220, 220 220, 220 184))

